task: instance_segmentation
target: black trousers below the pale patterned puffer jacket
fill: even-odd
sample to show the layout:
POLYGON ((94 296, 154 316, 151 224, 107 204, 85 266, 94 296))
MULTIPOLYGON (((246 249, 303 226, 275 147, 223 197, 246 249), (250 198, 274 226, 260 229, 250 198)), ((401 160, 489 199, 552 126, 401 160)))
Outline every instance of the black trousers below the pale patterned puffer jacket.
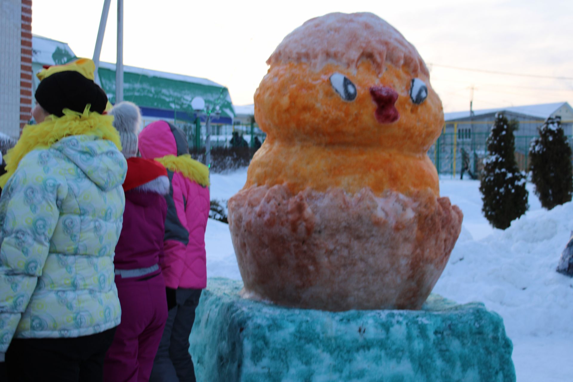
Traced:
POLYGON ((10 382, 101 382, 115 328, 76 338, 14 338, 6 352, 10 382))

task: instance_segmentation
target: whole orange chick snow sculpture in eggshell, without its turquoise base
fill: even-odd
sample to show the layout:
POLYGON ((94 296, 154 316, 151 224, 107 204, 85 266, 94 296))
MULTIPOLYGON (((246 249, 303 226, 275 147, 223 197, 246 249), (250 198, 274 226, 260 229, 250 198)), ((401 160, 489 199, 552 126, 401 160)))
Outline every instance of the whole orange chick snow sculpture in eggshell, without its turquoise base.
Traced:
POLYGON ((444 124, 417 50, 371 13, 305 22, 254 95, 267 133, 229 227, 245 297, 419 309, 460 234, 426 152, 444 124))

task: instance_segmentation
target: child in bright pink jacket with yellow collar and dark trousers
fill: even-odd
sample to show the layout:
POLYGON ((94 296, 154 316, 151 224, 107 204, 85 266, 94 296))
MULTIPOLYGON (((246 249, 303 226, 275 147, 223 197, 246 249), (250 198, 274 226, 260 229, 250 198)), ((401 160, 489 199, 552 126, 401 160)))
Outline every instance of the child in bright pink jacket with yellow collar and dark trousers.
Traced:
POLYGON ((160 259, 169 311, 150 381, 195 381, 189 336, 195 308, 207 286, 209 170, 191 159, 185 133, 166 121, 156 121, 143 129, 139 152, 144 158, 162 163, 171 183, 170 193, 165 196, 164 257, 160 259))

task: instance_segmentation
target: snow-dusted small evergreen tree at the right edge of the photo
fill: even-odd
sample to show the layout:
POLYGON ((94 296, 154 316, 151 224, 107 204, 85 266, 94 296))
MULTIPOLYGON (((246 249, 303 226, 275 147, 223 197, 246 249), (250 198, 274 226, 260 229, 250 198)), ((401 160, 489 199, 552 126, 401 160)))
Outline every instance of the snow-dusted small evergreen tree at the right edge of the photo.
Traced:
POLYGON ((561 127, 561 118, 548 118, 539 128, 539 137, 529 147, 531 181, 541 206, 551 210, 571 202, 573 166, 571 147, 561 127))

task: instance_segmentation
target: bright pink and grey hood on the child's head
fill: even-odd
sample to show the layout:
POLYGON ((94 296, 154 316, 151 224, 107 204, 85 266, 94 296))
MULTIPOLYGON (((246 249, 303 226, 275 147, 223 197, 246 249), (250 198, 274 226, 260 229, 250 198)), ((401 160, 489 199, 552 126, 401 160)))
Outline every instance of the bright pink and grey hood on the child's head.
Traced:
POLYGON ((182 129, 166 121, 155 121, 139 133, 139 152, 144 158, 155 159, 189 154, 189 146, 182 129))

